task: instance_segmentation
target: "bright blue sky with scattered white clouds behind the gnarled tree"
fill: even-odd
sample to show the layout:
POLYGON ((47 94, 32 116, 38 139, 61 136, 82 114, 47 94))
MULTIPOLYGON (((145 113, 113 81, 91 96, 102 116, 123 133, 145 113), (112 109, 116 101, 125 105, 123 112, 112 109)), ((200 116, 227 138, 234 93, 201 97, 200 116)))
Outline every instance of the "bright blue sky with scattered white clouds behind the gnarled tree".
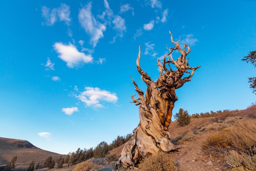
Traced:
MULTIPOLYGON (((174 40, 201 66, 176 90, 189 114, 255 102, 241 61, 256 50, 256 1, 0 1, 0 137, 65 154, 110 143, 139 123, 132 78, 157 80, 157 58, 174 40)), ((178 56, 178 53, 173 54, 178 56)))

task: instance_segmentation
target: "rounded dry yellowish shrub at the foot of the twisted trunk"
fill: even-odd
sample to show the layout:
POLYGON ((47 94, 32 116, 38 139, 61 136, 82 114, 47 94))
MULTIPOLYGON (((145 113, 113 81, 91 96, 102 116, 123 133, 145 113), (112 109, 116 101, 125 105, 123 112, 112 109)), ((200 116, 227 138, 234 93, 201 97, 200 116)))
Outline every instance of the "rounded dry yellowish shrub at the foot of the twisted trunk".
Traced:
POLYGON ((141 171, 178 171, 171 154, 164 152, 144 158, 139 167, 141 171))

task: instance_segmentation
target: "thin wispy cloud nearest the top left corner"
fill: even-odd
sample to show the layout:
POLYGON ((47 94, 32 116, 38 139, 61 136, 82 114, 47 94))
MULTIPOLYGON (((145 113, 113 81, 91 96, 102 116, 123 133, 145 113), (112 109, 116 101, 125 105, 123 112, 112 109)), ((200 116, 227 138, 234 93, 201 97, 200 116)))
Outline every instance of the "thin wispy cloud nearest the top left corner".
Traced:
POLYGON ((70 25, 70 7, 66 4, 61 4, 60 7, 49 9, 46 6, 42 7, 42 17, 45 18, 43 25, 52 26, 55 22, 64 21, 65 24, 70 25))

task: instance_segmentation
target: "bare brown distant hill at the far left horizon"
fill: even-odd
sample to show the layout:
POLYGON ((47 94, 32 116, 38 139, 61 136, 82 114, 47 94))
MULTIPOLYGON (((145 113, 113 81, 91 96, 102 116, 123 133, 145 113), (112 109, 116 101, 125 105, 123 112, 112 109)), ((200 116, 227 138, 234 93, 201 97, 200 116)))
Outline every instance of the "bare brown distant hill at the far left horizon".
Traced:
POLYGON ((7 164, 16 155, 18 156, 16 164, 31 163, 32 160, 44 162, 49 156, 56 160, 61 156, 61 154, 40 149, 27 140, 0 137, 0 165, 7 164))

